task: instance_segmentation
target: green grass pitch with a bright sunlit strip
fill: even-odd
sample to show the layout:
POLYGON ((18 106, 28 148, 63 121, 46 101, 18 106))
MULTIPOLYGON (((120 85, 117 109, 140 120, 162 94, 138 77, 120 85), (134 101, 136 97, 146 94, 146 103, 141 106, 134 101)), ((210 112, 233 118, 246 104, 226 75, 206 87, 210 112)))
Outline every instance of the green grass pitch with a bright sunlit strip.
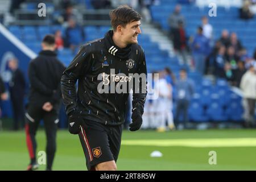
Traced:
MULTIPOLYGON (((44 151, 44 130, 36 135, 44 151)), ((24 131, 0 131, 0 170, 25 170, 29 162, 24 131)), ((118 170, 256 170, 256 130, 123 131, 118 170), (163 156, 151 158, 152 151, 163 156), (216 151, 217 164, 209 164, 216 151)), ((44 170, 40 165, 39 170, 44 170)), ((77 135, 57 133, 53 170, 86 170, 77 135)))

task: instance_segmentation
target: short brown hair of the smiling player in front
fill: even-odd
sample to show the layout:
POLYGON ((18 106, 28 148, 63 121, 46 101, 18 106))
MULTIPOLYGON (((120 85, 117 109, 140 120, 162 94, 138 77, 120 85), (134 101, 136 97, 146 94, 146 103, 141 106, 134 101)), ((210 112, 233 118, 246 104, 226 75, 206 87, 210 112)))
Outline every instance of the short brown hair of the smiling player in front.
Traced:
POLYGON ((117 26, 121 25, 125 27, 126 24, 141 20, 142 16, 129 7, 128 5, 118 6, 117 9, 111 10, 109 13, 111 26, 114 31, 117 30, 117 26))

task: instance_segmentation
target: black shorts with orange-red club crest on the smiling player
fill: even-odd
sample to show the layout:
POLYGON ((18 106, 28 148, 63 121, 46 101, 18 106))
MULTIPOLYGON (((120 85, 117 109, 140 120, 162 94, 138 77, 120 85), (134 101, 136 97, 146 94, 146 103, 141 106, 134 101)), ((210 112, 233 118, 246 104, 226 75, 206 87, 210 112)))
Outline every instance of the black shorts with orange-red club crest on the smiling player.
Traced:
POLYGON ((120 146, 122 125, 105 126, 101 123, 86 120, 88 127, 81 127, 79 133, 82 149, 88 170, 103 162, 117 162, 120 146))

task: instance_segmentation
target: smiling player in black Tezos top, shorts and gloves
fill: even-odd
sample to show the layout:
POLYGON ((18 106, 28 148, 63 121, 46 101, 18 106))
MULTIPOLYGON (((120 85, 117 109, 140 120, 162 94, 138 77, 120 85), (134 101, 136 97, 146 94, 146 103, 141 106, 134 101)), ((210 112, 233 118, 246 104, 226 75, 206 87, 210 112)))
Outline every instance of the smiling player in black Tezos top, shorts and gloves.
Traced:
POLYGON ((88 170, 117 169, 130 93, 127 86, 131 81, 135 85, 130 131, 142 125, 147 94, 146 60, 137 40, 141 15, 129 6, 120 6, 110 11, 110 19, 113 30, 82 46, 61 77, 69 132, 79 134, 88 170))

